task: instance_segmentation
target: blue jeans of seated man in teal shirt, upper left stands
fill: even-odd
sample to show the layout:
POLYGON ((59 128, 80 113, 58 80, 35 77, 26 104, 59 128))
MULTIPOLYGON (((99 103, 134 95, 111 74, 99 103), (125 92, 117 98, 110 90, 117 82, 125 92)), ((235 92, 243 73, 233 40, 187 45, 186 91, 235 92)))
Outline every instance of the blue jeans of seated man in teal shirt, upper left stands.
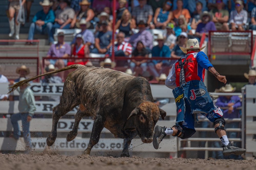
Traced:
POLYGON ((37 26, 34 22, 32 22, 28 30, 28 40, 33 40, 35 33, 40 33, 40 34, 48 34, 48 41, 50 42, 49 33, 51 32, 52 27, 53 27, 52 22, 48 22, 44 29, 42 27, 37 26))

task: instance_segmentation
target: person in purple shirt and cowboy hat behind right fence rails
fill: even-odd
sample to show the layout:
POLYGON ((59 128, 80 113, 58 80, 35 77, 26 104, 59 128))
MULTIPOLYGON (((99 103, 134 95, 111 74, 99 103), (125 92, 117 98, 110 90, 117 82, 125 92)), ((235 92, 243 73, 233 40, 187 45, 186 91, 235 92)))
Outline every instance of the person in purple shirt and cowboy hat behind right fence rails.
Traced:
MULTIPOLYGON (((220 92, 223 93, 233 93, 236 88, 232 87, 231 84, 226 84, 225 86, 221 87, 220 92)), ((240 110, 237 109, 238 107, 242 106, 241 99, 238 96, 219 96, 216 101, 216 106, 219 107, 228 107, 227 109, 223 109, 223 117, 226 119, 234 119, 240 118, 240 110)), ((225 124, 225 128, 238 128, 239 122, 227 122, 225 124)), ((230 138, 238 138, 237 132, 227 132, 230 138)), ((242 159, 240 155, 229 155, 224 156, 224 158, 228 159, 242 159)))

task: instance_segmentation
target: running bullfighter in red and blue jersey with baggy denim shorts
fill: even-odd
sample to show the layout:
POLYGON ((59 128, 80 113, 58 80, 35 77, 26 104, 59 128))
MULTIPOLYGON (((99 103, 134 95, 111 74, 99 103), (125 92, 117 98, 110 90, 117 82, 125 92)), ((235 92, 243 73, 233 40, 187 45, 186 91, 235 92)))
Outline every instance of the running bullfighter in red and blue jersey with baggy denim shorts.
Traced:
POLYGON ((238 148, 228 140, 224 125, 222 109, 214 106, 213 101, 203 83, 205 70, 210 71, 220 82, 226 84, 226 76, 220 75, 212 66, 207 55, 199 47, 197 39, 189 39, 187 47, 180 47, 186 55, 177 60, 166 78, 165 85, 173 89, 172 93, 177 106, 175 126, 171 128, 156 126, 153 135, 153 146, 158 149, 159 143, 166 135, 181 139, 190 138, 194 129, 194 115, 201 113, 214 125, 214 131, 222 142, 223 155, 240 155, 245 149, 238 148))

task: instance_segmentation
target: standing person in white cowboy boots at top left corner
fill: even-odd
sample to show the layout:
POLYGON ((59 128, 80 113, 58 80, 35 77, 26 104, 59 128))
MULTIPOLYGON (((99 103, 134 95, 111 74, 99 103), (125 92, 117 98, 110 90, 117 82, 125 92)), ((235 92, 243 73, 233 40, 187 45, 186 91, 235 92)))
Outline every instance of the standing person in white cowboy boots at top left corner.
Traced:
POLYGON ((19 3, 19 1, 11 1, 9 0, 9 7, 8 7, 8 13, 7 13, 7 17, 9 20, 9 26, 11 29, 11 32, 9 33, 9 37, 12 37, 14 35, 15 32, 15 39, 18 40, 19 39, 19 29, 21 28, 21 24, 17 22, 16 19, 14 19, 14 14, 16 13, 16 18, 18 15, 18 11, 20 9, 20 7, 22 5, 25 4, 26 0, 22 0, 21 4, 19 3), (14 22, 15 20, 15 22, 14 22), (14 30, 15 27, 15 30, 14 30))

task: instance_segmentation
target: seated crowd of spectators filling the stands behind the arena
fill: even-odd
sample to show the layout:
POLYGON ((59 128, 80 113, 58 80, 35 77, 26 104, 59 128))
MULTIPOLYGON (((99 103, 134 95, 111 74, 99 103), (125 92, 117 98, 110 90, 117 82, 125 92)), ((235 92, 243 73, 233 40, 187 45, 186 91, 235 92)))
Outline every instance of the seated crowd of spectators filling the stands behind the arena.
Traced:
MULTIPOLYGON (((140 58, 120 62, 122 66, 132 71, 141 67, 143 72, 148 70, 154 77, 163 73, 162 66, 169 70, 175 60, 184 56, 179 46, 185 47, 190 38, 200 42, 203 34, 207 40, 209 31, 243 31, 249 27, 248 14, 251 16, 250 29, 256 29, 256 3, 241 0, 119 0, 114 30, 113 2, 110 0, 44 0, 40 5, 43 9, 32 20, 28 40, 33 40, 35 33, 48 34, 51 46, 47 57, 87 58, 90 53, 98 53, 107 58, 112 55, 114 46, 115 56, 140 58), (65 43, 65 34, 60 32, 56 44, 56 28, 80 28, 81 32, 71 44, 65 43), (162 34, 155 36, 151 29, 162 30, 162 34), (115 42, 112 42, 113 31, 115 42), (169 59, 148 60, 149 55, 169 59)), ((86 61, 50 59, 44 62, 46 66, 53 64, 58 68, 75 63, 86 64, 86 61)), ((121 65, 117 63, 117 66, 121 65)))

